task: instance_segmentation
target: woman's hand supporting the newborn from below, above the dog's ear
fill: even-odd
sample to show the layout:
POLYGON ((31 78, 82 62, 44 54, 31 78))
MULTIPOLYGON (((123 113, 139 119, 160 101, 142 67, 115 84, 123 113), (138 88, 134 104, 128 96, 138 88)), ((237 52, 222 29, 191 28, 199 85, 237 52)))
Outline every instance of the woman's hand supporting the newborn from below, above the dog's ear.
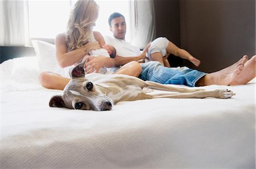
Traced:
POLYGON ((88 60, 85 64, 85 73, 86 74, 98 73, 98 71, 100 71, 100 69, 103 66, 105 66, 106 58, 108 58, 108 57, 105 57, 105 56, 97 56, 97 57, 89 56, 88 60))

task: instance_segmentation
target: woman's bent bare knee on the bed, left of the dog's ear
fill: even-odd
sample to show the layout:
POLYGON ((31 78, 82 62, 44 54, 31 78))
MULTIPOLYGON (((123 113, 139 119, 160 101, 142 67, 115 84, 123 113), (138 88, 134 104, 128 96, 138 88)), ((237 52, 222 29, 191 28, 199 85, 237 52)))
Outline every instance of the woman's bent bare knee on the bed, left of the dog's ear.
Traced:
POLYGON ((44 71, 39 75, 40 84, 49 89, 63 90, 69 81, 70 78, 49 71, 44 71))

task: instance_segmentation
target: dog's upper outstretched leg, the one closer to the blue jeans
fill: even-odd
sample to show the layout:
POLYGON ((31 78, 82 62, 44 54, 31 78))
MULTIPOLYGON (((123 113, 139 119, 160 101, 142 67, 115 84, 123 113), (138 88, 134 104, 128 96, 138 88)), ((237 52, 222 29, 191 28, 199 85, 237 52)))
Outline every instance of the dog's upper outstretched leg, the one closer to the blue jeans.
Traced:
POLYGON ((167 84, 160 84, 156 82, 146 81, 146 85, 144 87, 151 88, 154 90, 162 90, 162 91, 172 91, 172 92, 195 92, 195 91, 203 91, 204 89, 195 89, 195 88, 182 88, 182 87, 172 87, 167 84))

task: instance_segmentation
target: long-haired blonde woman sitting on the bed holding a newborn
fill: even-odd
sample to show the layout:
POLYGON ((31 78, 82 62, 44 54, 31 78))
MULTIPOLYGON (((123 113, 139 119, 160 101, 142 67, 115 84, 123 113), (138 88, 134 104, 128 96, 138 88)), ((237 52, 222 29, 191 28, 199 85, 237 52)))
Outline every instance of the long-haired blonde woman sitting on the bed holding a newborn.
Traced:
MULTIPOLYGON (((105 45, 105 40, 100 32, 93 32, 93 26, 98 18, 99 6, 92 0, 77 1, 69 16, 67 32, 56 36, 56 58, 60 67, 68 67, 81 62, 89 54, 90 50, 100 49, 105 45)), ((99 56, 89 57, 86 67, 86 73, 98 72, 101 67, 114 67, 125 64, 115 73, 127 74, 138 77, 141 73, 141 66, 136 60, 144 58, 146 51, 137 57, 127 57, 115 61, 113 58, 99 56), (127 64, 128 63, 128 64, 127 64), (90 69, 93 67, 93 69, 90 69)), ((63 90, 70 78, 63 75, 42 72, 39 76, 39 82, 43 87, 63 90)))

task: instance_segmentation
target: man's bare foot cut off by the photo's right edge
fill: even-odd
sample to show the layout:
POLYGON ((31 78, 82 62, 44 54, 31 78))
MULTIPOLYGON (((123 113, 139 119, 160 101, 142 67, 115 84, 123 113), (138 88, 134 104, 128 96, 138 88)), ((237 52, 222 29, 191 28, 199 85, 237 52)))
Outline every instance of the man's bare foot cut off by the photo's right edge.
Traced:
POLYGON ((256 55, 250 58, 249 61, 245 63, 245 68, 242 72, 234 79, 230 85, 246 84, 251 79, 255 78, 256 75, 256 55))

